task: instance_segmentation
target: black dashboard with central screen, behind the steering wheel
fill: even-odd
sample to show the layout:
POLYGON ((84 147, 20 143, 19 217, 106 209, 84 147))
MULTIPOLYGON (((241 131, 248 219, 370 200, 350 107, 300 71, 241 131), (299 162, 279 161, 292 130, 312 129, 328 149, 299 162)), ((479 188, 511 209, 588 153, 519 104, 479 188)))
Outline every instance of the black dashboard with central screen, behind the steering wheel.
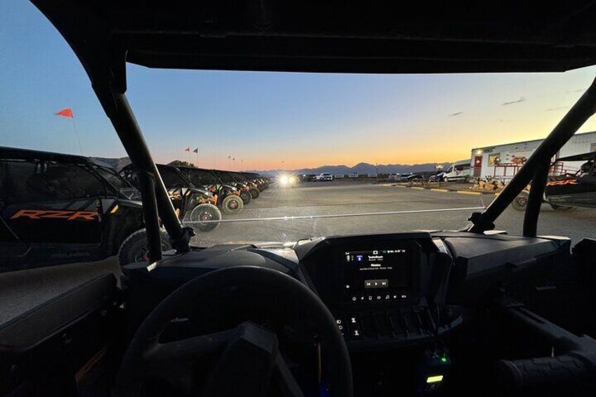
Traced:
MULTIPOLYGON (((141 321, 167 294, 199 275, 229 266, 273 268, 318 294, 351 351, 367 351, 425 344, 448 334, 462 325, 462 308, 477 304, 510 275, 520 279, 564 260, 569 249, 569 239, 562 237, 506 234, 320 237, 293 247, 219 245, 164 256, 157 266, 126 266, 124 281, 131 312, 141 321)), ((533 289, 531 282, 519 285, 533 289)))

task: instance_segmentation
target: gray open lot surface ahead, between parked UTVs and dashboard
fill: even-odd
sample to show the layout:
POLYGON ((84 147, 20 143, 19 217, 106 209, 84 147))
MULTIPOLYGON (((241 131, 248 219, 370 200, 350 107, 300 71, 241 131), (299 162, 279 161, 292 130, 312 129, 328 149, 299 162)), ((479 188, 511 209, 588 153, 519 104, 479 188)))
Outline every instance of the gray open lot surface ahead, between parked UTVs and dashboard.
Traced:
MULTIPOLYGON (((443 186, 442 186, 443 187, 443 186)), ((467 226, 471 210, 418 214, 384 214, 322 219, 272 221, 278 216, 329 214, 367 214, 387 211, 457 209, 482 207, 494 195, 464 195, 432 190, 396 188, 390 184, 357 182, 304 183, 297 188, 271 186, 252 200, 240 214, 224 215, 224 220, 209 233, 198 233, 193 244, 218 242, 295 241, 301 238, 358 233, 395 233, 407 230, 460 229, 467 226), (246 221, 250 220, 250 221, 246 221)), ((509 233, 522 232, 523 212, 507 209, 496 226, 509 233)), ((559 213, 543 205, 538 233, 564 235, 574 242, 582 237, 596 237, 596 209, 578 209, 559 213)))

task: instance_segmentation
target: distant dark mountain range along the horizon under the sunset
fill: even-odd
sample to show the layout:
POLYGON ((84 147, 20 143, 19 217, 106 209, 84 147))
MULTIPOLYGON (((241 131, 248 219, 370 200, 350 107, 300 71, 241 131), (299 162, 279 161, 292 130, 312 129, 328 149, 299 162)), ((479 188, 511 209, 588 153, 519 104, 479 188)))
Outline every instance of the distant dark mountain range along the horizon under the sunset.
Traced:
MULTIPOLYGON (((105 157, 93 157, 95 160, 110 164, 117 170, 126 167, 130 164, 128 157, 121 157, 119 159, 110 159, 105 157)), ((434 171, 437 164, 443 165, 443 169, 447 169, 451 163, 425 163, 425 164, 379 164, 378 167, 375 164, 368 164, 361 162, 356 164, 354 167, 348 167, 346 165, 323 165, 316 168, 302 168, 302 169, 269 169, 269 170, 251 170, 251 172, 258 172, 259 174, 278 174, 280 172, 292 172, 294 174, 320 174, 322 172, 328 172, 330 174, 376 174, 377 170, 379 174, 407 174, 410 172, 424 172, 434 171)))

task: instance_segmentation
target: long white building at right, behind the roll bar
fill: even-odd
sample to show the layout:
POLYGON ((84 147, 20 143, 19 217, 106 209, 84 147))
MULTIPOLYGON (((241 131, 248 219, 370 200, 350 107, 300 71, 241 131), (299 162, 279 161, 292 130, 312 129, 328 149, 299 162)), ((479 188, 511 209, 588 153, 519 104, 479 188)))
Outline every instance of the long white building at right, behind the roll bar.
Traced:
MULTIPOLYGON (((500 180, 512 178, 543 141, 543 139, 536 139, 472 149, 470 158, 472 177, 500 180)), ((596 131, 575 134, 553 160, 594 151, 596 151, 596 131)), ((562 167, 568 171, 576 171, 580 166, 581 162, 576 162, 563 164, 562 167)))

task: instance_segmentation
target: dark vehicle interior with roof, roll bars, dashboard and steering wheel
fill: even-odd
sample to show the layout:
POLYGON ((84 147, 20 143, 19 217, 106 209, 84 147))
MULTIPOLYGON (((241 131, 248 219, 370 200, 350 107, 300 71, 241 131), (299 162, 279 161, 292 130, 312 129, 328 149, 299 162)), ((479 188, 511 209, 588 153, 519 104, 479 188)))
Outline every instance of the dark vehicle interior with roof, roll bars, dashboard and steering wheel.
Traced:
MULTIPOLYGON (((8 396, 594 396, 596 240, 540 235, 550 161, 590 86, 462 230, 191 246, 127 101, 126 63, 311 73, 557 72, 596 64, 596 6, 32 0, 134 167, 146 262, 0 278, 8 396), (495 219, 532 184, 523 233, 495 219), (160 226, 171 247, 162 252, 160 226), (363 269, 376 268, 373 277, 363 269)), ((194 183, 193 179, 193 183, 194 183)), ((262 201, 262 200, 261 200, 262 201)), ((3 229, 4 230, 4 229, 3 229)), ((592 236, 593 237, 593 236, 592 236)), ((1 248, 0 248, 1 249, 1 248)))

